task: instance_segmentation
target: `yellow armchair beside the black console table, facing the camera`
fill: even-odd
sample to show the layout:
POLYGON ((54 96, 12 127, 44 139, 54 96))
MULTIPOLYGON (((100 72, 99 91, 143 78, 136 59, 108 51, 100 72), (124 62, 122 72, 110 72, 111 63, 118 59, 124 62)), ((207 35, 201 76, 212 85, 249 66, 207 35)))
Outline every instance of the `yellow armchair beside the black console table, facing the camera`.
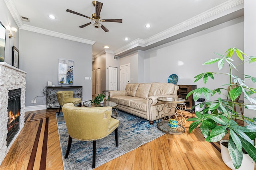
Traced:
MULTIPOLYGON (((60 109, 66 103, 72 103, 74 105, 79 104, 79 106, 81 107, 82 101, 80 98, 73 98, 74 96, 73 91, 59 91, 56 94, 57 94, 58 102, 60 104, 60 109)), ((60 114, 60 109, 59 109, 58 115, 60 114)))

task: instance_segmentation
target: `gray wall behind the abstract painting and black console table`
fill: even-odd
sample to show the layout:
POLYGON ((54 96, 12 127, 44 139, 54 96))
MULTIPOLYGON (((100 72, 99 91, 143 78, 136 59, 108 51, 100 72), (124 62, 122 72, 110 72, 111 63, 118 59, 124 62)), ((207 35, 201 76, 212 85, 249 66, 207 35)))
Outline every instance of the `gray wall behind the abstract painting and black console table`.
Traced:
POLYGON ((27 72, 26 106, 46 104, 42 90, 47 81, 58 86, 58 59, 74 61, 73 86, 83 86, 83 100, 92 98, 92 80, 84 80, 92 76, 92 45, 20 29, 20 69, 27 72), (31 104, 36 96, 43 97, 31 104))

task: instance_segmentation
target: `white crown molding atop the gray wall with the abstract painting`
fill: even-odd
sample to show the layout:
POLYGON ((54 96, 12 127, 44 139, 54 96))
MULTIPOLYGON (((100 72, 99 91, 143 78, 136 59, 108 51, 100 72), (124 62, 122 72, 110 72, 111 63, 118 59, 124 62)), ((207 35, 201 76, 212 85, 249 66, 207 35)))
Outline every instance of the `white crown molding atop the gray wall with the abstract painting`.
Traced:
POLYGON ((74 36, 71 36, 71 35, 66 35, 66 34, 63 34, 63 33, 58 33, 58 32, 55 32, 55 31, 50 31, 48 29, 42 29, 42 28, 39 28, 39 27, 34 27, 34 26, 26 25, 26 24, 23 24, 20 27, 20 29, 24 29, 24 30, 32 31, 32 32, 36 32, 36 33, 41 33, 41 34, 44 34, 44 35, 50 35, 50 36, 53 36, 53 37, 68 39, 68 40, 71 40, 71 41, 77 41, 77 42, 80 42, 80 43, 85 43, 85 44, 90 44, 90 45, 93 45, 95 43, 95 41, 91 41, 91 40, 88 40, 88 39, 82 39, 82 38, 79 38, 79 37, 74 37, 74 36))

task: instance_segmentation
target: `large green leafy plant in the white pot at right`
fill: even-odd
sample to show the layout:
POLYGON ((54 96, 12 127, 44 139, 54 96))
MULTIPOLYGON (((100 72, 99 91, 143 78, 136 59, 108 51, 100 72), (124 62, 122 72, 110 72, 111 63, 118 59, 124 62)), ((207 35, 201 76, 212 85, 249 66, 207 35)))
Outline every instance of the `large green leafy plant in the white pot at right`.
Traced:
POLYGON ((254 139, 256 138, 256 118, 251 119, 244 116, 244 119, 242 120, 248 124, 244 127, 238 125, 236 121, 233 120, 234 118, 238 117, 238 113, 234 111, 234 107, 236 106, 236 102, 234 100, 240 96, 240 94, 243 94, 244 98, 250 102, 250 104, 244 104, 245 108, 256 110, 256 98, 251 97, 252 94, 256 94, 256 89, 245 84, 245 80, 255 83, 256 78, 249 75, 244 75, 244 80, 242 80, 238 76, 233 75, 232 71, 237 70, 232 59, 234 53, 236 53, 236 56, 241 60, 240 64, 245 62, 253 63, 256 61, 255 56, 248 57, 241 50, 236 48, 228 49, 224 55, 215 53, 219 56, 219 58, 206 61, 203 65, 218 62, 218 68, 221 70, 224 64, 227 64, 230 73, 204 72, 195 76, 196 80, 194 82, 203 79, 204 84, 206 84, 208 78, 212 78, 214 80, 214 74, 225 74, 228 76, 229 84, 224 84, 222 86, 228 86, 228 88, 230 88, 232 82, 234 82, 237 84, 236 88, 230 88, 228 90, 228 94, 225 95, 225 92, 227 92, 226 88, 210 90, 208 88, 201 87, 192 90, 190 93, 188 93, 186 98, 193 94, 194 101, 198 100, 201 95, 208 100, 199 104, 201 108, 204 104, 206 107, 202 111, 196 112, 196 117, 188 119, 188 121, 194 121, 189 127, 189 133, 200 125, 200 130, 208 142, 220 141, 227 133, 230 133, 228 150, 233 165, 237 169, 241 166, 243 159, 242 148, 246 150, 249 156, 254 160, 254 162, 256 162, 256 148, 254 147, 254 139), (214 94, 223 94, 226 97, 225 99, 218 98, 218 100, 209 101, 210 96, 213 96, 214 94))

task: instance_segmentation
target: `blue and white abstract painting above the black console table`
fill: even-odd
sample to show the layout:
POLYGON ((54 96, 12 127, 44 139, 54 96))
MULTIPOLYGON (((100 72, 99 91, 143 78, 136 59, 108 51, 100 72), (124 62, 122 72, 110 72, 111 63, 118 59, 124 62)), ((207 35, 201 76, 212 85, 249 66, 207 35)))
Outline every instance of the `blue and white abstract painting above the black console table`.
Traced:
POLYGON ((73 84, 74 61, 59 59, 58 84, 73 84))

